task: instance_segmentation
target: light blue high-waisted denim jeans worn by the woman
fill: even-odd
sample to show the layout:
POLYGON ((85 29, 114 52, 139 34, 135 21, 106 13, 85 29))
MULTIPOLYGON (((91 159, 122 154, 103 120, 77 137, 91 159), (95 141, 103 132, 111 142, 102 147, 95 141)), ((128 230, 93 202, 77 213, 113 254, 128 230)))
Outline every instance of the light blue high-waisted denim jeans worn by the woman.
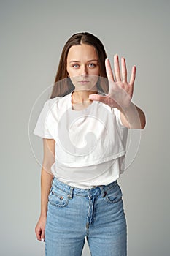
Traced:
POLYGON ((46 256, 80 256, 87 238, 92 256, 127 255, 127 227, 117 181, 92 189, 53 178, 45 227, 46 256))

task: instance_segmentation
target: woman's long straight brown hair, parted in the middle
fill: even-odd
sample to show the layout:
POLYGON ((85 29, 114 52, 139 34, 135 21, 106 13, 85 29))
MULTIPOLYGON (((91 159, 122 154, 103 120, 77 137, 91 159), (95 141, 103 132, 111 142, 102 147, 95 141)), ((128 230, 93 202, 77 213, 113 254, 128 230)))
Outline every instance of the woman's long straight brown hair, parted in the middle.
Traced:
POLYGON ((104 92, 105 94, 108 93, 109 86, 106 79, 107 73, 104 64, 105 59, 107 58, 107 53, 104 50, 104 45, 93 34, 90 34, 88 32, 82 32, 73 34, 63 47, 50 99, 65 96, 66 94, 69 94, 71 91, 74 90, 74 85, 72 84, 72 81, 68 78, 68 73, 66 70, 66 60, 69 49, 73 45, 81 45, 82 43, 86 45, 92 45, 96 49, 100 69, 100 79, 98 79, 97 88, 99 91, 104 92))

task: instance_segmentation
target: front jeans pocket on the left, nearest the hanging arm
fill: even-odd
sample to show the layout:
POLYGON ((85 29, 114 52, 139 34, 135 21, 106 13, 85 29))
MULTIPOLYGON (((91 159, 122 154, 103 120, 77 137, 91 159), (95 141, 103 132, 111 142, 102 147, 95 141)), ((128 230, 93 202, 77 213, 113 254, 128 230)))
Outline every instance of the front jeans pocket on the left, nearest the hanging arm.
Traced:
POLYGON ((69 197, 66 192, 53 187, 53 189, 50 190, 48 201, 53 206, 64 207, 68 205, 69 197))

